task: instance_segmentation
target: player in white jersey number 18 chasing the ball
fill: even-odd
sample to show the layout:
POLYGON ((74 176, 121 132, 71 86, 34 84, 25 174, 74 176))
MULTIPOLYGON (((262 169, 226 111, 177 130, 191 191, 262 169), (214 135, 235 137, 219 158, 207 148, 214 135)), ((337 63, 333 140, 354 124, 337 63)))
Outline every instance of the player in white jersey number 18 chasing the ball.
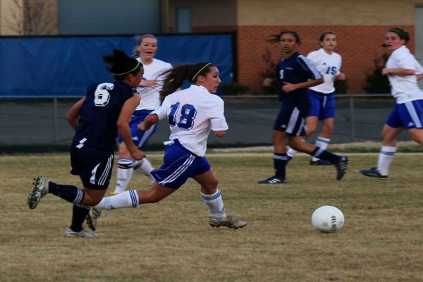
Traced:
POLYGON ((128 190, 104 198, 87 216, 88 225, 95 229, 102 209, 159 202, 193 178, 201 185, 200 196, 209 207, 210 226, 244 227, 245 221, 226 215, 219 180, 204 157, 210 130, 216 137, 223 137, 228 129, 223 100, 215 95, 221 83, 219 70, 203 62, 176 66, 165 75, 163 104, 138 125, 140 130, 148 130, 157 121, 167 119, 171 129, 170 140, 165 142, 164 164, 152 171, 155 182, 148 190, 128 190), (175 92, 185 79, 192 82, 191 87, 175 92))

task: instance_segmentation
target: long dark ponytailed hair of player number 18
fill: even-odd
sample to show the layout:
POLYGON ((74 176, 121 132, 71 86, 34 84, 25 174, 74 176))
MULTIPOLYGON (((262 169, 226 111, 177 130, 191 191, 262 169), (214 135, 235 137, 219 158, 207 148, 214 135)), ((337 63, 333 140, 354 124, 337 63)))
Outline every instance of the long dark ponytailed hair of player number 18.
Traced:
POLYGON ((161 101, 163 101, 168 94, 176 92, 182 85, 183 80, 186 79, 189 82, 195 83, 200 75, 205 76, 207 73, 210 73, 210 68, 213 66, 212 63, 207 62, 195 64, 183 63, 168 71, 164 71, 164 73, 161 74, 164 75, 163 88, 161 88, 160 91, 161 101))

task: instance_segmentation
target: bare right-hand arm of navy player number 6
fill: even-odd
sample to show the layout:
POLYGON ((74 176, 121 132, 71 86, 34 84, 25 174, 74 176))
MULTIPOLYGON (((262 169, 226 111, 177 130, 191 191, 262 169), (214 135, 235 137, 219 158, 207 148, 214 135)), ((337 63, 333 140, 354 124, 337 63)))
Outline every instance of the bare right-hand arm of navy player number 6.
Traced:
POLYGON ((133 143, 132 134, 130 133, 129 128, 129 122, 131 116, 133 115, 135 109, 139 104, 140 95, 134 95, 130 99, 126 100, 125 104, 123 104, 123 107, 121 109, 121 114, 119 114, 117 123, 119 133, 121 133, 121 137, 126 147, 128 148, 128 152, 130 153, 131 157, 137 160, 144 158, 145 153, 141 152, 133 143))

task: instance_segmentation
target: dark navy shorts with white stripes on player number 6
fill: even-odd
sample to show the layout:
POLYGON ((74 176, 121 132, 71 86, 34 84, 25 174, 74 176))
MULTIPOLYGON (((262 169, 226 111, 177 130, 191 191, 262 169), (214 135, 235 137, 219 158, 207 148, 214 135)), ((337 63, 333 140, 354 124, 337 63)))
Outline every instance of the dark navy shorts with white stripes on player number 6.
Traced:
POLYGON ((80 176, 86 188, 104 190, 109 187, 114 151, 73 143, 71 146, 71 173, 80 176))

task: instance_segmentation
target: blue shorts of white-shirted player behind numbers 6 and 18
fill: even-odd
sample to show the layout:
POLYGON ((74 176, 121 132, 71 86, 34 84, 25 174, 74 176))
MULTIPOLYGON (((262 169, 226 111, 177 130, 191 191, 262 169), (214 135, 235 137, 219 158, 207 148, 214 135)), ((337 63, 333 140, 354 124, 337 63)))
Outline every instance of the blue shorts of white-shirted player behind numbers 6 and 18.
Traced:
MULTIPOLYGON (((135 146, 143 148, 145 147, 145 144, 149 140, 149 137, 153 135, 154 132, 157 130, 157 123, 155 123, 152 128, 149 130, 138 130, 137 126, 138 124, 142 123, 142 121, 145 120, 145 118, 151 113, 152 110, 139 110, 135 111, 132 118, 129 122, 130 127, 130 133, 133 135, 133 142, 135 146)), ((123 139, 121 135, 118 135, 118 143, 121 144, 123 142, 123 139)))

